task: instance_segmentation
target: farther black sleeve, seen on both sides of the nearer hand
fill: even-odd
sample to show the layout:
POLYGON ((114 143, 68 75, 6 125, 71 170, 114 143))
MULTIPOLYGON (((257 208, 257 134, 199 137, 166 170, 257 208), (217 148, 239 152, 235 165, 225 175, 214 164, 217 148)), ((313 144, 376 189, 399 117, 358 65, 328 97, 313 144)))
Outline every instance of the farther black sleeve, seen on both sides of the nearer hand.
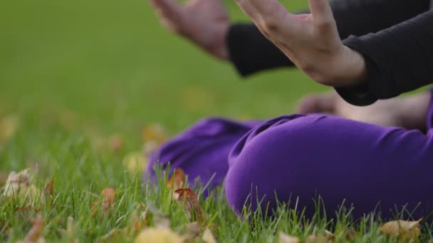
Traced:
MULTIPOLYGON (((340 38, 345 39, 377 32, 417 16, 429 9, 429 0, 338 0, 330 5, 340 38)), ((232 25, 226 42, 229 59, 241 75, 293 66, 252 23, 232 25)))

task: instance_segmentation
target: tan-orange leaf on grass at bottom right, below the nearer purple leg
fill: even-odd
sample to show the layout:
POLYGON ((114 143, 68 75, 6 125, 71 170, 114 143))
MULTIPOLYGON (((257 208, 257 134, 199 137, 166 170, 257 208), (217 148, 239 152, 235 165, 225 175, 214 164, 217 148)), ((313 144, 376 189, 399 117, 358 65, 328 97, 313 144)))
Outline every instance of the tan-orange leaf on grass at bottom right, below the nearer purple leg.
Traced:
POLYGON ((419 222, 421 222, 421 220, 390 221, 385 223, 385 225, 382 225, 382 227, 380 227, 380 231, 390 236, 413 239, 419 237, 419 234, 421 234, 419 231, 419 222))

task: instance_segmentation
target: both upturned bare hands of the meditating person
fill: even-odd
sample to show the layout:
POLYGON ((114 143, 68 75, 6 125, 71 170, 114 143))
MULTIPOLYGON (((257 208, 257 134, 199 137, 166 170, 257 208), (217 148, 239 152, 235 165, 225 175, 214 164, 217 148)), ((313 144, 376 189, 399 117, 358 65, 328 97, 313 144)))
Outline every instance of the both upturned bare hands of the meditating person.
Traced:
MULTIPOLYGON (((365 80, 362 55, 343 45, 328 0, 308 0, 311 13, 289 13, 278 0, 235 0, 261 33, 303 72, 323 85, 365 80)), ((161 22, 207 53, 228 59, 229 15, 221 0, 150 0, 161 22)))

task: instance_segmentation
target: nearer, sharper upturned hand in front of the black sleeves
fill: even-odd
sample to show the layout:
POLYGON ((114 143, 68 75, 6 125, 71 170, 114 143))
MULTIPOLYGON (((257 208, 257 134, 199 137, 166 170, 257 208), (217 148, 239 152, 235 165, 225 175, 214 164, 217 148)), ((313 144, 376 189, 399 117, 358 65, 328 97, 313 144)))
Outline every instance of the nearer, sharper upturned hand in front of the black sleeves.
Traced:
POLYGON ((277 0, 236 0, 259 30, 303 72, 323 85, 358 85, 362 55, 343 45, 328 0, 308 0, 311 13, 288 13, 277 0))

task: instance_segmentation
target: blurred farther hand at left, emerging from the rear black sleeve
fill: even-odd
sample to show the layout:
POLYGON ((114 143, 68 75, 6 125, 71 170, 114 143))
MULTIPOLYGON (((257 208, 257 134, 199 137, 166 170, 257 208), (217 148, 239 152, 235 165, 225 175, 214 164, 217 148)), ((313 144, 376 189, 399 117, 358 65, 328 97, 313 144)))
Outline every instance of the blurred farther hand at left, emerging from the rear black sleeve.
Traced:
POLYGON ((228 59, 226 35, 230 21, 221 0, 189 0, 183 5, 176 0, 150 0, 150 3, 170 31, 216 58, 228 59))

